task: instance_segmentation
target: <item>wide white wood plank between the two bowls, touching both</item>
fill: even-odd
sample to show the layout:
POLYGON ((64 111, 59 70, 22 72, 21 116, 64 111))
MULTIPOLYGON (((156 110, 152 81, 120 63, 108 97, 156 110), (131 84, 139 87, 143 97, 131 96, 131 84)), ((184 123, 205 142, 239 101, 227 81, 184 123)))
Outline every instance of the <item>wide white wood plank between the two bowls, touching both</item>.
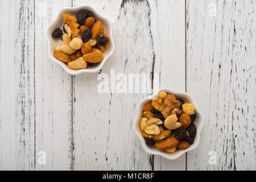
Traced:
MULTIPOLYGON (((87 2, 74 1, 73 5, 87 2)), ((116 74, 151 73, 154 54, 147 2, 97 6, 107 16, 119 11, 113 24, 116 51, 102 73, 110 76, 110 68, 116 74)), ((99 94, 97 76, 75 76, 73 82, 74 169, 152 169, 152 158, 142 149, 131 127, 138 102, 148 94, 99 94)))

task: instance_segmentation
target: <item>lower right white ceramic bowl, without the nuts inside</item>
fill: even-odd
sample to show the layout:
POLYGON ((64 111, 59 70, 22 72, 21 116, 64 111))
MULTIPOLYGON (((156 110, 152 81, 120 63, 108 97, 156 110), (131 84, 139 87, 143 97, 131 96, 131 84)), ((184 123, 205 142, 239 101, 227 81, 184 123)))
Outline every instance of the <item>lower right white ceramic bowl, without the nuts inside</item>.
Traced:
POLYGON ((152 94, 152 96, 148 96, 147 98, 144 98, 139 103, 139 106, 137 108, 137 117, 135 118, 135 121, 133 123, 133 129, 134 129, 136 135, 138 136, 139 140, 141 140, 141 143, 142 143, 142 146, 143 146, 144 150, 148 154, 160 155, 160 156, 163 156, 164 158, 167 158, 167 159, 177 159, 181 155, 185 154, 185 152, 191 151, 199 145, 200 133, 201 133, 201 129, 202 129, 203 124, 204 124, 204 119, 203 119, 203 115, 201 114, 201 112, 197 109, 195 104, 193 104, 195 106, 195 109, 196 109, 196 119, 195 119, 194 123, 195 123, 196 128, 197 128, 197 133, 196 133, 195 142, 193 144, 191 144, 185 150, 177 149, 177 151, 174 154, 169 154, 169 153, 164 152, 163 150, 160 150, 160 149, 158 149, 154 146, 147 146, 145 139, 142 137, 142 134, 141 134, 142 131, 139 127, 139 121, 141 121, 141 118, 142 118, 143 106, 145 104, 147 104, 152 98, 158 97, 158 94, 162 91, 166 92, 167 94, 174 94, 176 96, 176 98, 181 98, 185 102, 187 102, 187 103, 189 102, 189 103, 193 104, 193 101, 192 101, 191 97, 187 93, 174 92, 174 91, 172 91, 170 89, 167 89, 167 88, 160 89, 157 93, 152 94))

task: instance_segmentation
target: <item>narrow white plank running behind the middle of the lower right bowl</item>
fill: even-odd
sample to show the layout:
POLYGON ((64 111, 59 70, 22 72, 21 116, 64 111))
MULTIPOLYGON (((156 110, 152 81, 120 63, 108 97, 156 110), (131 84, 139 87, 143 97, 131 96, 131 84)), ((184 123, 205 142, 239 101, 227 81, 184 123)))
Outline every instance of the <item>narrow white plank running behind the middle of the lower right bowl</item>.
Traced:
MULTIPOLYGON (((185 92, 185 1, 148 2, 159 88, 185 92)), ((176 160, 155 156, 154 164, 155 170, 185 170, 185 154, 176 160)))

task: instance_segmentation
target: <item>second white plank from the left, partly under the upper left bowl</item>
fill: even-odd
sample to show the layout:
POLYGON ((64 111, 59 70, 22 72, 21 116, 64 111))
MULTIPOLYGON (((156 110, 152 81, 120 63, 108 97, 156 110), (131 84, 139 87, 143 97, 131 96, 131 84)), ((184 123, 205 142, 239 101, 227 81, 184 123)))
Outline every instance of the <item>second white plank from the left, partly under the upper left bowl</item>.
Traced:
MULTIPOLYGON (((70 0, 35 1, 36 170, 72 169, 72 76, 48 56, 46 30, 70 0), (38 163, 46 152, 46 165, 38 163)), ((57 27, 56 27, 57 28, 57 27)))

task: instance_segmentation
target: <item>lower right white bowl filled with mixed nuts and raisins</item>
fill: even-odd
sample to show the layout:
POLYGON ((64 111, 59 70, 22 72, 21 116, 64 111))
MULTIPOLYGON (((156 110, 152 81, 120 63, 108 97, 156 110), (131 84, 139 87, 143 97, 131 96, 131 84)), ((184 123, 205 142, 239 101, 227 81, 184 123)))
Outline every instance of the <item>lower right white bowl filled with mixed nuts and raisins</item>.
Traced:
POLYGON ((133 129, 146 152, 177 159, 199 145, 203 123, 187 93, 163 88, 140 102, 133 129))

